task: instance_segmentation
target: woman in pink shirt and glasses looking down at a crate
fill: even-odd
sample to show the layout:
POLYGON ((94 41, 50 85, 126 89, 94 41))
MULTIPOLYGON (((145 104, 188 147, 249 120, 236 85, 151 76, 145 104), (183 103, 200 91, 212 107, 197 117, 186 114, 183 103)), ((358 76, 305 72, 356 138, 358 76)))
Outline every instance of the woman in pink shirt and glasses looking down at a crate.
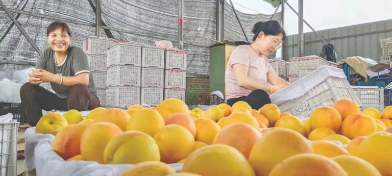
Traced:
POLYGON ((253 109, 259 109, 271 103, 269 94, 289 85, 273 71, 267 59, 280 48, 286 33, 276 21, 257 22, 252 32, 253 43, 238 46, 227 62, 226 100, 230 106, 245 101, 253 109))

